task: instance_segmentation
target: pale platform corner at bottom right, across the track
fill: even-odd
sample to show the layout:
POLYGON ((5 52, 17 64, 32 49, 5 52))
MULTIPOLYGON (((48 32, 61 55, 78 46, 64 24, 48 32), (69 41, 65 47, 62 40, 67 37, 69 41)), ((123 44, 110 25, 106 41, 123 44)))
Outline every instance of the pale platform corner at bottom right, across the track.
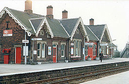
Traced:
POLYGON ((129 84, 129 71, 87 81, 80 84, 129 84))

